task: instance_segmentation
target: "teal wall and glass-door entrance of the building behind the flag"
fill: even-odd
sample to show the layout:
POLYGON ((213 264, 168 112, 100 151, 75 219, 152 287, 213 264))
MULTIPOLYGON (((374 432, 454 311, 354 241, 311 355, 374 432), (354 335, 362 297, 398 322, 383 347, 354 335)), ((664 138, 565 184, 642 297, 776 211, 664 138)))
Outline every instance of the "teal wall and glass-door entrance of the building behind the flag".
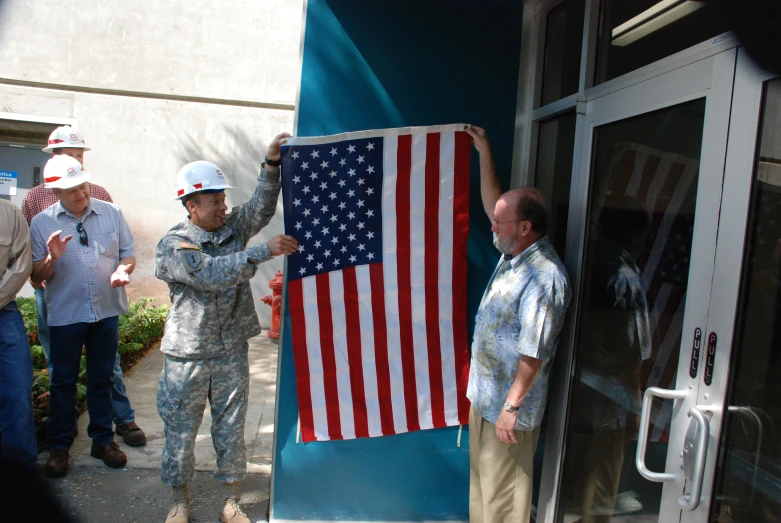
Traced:
MULTIPOLYGON (((299 128, 482 125, 504 187, 535 185, 548 199, 575 294, 535 463, 535 520, 778 521, 781 80, 756 65, 734 20, 687 0, 358 4, 307 2, 302 95, 312 90, 299 128), (323 74, 338 63, 358 74, 323 74), (326 118, 345 90, 363 120, 326 118)), ((492 262, 479 214, 477 288, 492 262)), ((288 343, 272 519, 467 519, 453 431, 297 443, 288 343), (336 482, 325 499, 297 495, 336 482)))

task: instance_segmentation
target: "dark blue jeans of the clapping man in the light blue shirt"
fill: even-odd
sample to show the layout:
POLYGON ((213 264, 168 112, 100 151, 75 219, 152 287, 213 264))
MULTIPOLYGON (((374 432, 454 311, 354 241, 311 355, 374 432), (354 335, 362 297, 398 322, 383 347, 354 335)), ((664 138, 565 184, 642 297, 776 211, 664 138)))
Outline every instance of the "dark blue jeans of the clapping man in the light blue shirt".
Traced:
POLYGON ((73 444, 73 409, 79 377, 81 348, 87 349, 87 435, 98 445, 114 441, 111 426, 111 389, 117 357, 119 318, 94 323, 50 326, 54 374, 49 398, 49 442, 52 450, 73 444))

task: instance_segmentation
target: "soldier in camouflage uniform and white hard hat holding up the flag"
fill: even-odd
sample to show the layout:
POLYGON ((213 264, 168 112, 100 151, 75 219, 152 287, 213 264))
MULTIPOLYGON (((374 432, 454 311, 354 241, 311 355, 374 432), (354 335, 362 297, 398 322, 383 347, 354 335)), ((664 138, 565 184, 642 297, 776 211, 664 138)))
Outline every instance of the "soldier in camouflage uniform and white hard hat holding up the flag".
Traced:
POLYGON ((165 424, 163 483, 173 487, 167 523, 186 523, 193 451, 207 398, 217 451, 214 477, 224 484, 223 523, 249 523, 239 506, 239 481, 247 473, 244 421, 249 366, 247 340, 260 333, 249 280, 258 265, 292 254, 298 243, 278 235, 247 247, 276 211, 279 147, 274 138, 250 200, 228 212, 225 175, 213 163, 185 165, 176 176, 176 197, 189 219, 174 226, 157 246, 156 276, 168 283, 173 306, 160 349, 165 353, 157 409, 165 424))

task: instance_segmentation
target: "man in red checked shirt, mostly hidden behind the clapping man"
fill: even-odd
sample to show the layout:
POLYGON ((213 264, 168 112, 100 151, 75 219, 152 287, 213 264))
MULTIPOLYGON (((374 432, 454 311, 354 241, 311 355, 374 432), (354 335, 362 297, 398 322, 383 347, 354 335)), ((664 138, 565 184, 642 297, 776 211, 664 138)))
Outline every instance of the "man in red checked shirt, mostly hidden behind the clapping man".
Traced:
MULTIPOLYGON (((56 128, 49 136, 49 143, 42 149, 43 152, 51 153, 52 156, 61 154, 70 156, 77 159, 82 165, 84 165, 84 152, 89 150, 90 148, 87 147, 87 143, 84 141, 84 136, 70 125, 56 128)), ((44 179, 46 182, 55 181, 53 178, 46 179, 45 176, 44 179)), ((108 191, 96 183, 90 183, 90 198, 114 203, 108 191)), ((46 184, 33 187, 22 202, 22 214, 27 219, 27 224, 30 225, 32 223, 32 219, 36 214, 55 203, 57 203, 57 196, 52 189, 46 187, 46 184)), ((38 316, 38 338, 41 341, 43 353, 46 355, 49 376, 51 376, 52 363, 49 357, 49 325, 47 323, 45 285, 44 283, 33 283, 33 287, 35 287, 35 306, 38 316)), ((122 436, 125 443, 130 446, 142 446, 146 444, 146 435, 136 424, 135 411, 130 404, 130 398, 125 389, 125 379, 122 375, 122 367, 120 367, 119 354, 117 354, 116 360, 114 377, 112 379, 111 404, 117 434, 122 436)), ((76 411, 76 416, 78 416, 78 411, 76 411)), ((75 430, 74 428, 74 433, 75 430)))

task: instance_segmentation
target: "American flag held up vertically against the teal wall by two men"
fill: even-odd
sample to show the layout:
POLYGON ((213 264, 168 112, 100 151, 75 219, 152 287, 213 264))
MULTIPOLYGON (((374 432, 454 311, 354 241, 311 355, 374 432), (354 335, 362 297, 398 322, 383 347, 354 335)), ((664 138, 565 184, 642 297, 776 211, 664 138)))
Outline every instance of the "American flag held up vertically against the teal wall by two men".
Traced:
POLYGON ((286 280, 303 441, 464 424, 463 125, 292 138, 286 280))

